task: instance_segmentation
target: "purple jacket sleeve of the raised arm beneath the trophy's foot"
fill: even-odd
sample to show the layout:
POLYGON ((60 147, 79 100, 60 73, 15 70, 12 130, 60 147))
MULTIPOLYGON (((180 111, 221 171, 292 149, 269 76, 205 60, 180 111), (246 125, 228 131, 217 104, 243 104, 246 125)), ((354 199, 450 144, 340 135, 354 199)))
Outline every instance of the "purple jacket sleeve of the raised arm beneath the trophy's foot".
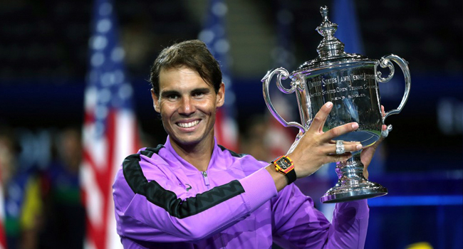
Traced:
POLYGON ((283 248, 363 248, 368 228, 366 200, 336 203, 330 223, 312 198, 294 184, 272 200, 274 242, 283 248))

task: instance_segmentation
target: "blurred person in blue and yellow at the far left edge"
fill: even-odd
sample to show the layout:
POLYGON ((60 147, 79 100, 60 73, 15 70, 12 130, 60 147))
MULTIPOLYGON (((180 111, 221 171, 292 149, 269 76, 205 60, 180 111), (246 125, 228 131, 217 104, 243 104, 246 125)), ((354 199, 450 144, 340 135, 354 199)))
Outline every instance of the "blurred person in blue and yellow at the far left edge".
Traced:
POLYGON ((41 226, 41 181, 33 168, 17 165, 14 132, 0 127, 1 182, 4 184, 6 245, 9 249, 37 248, 41 226))

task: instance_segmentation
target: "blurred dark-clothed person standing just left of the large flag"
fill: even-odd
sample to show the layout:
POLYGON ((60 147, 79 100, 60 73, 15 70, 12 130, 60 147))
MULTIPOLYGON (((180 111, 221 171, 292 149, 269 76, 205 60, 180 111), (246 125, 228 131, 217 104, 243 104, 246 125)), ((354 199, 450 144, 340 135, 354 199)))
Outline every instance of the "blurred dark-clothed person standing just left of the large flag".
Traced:
POLYGON ((40 248, 83 248, 85 209, 78 177, 81 153, 79 130, 67 128, 60 132, 56 158, 44 177, 46 223, 40 248))

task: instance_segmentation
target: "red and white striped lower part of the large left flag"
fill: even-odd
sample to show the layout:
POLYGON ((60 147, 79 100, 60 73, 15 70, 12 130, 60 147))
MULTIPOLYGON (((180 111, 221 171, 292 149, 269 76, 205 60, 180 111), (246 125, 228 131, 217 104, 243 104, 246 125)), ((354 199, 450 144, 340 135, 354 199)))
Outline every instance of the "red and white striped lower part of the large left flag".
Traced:
POLYGON ((83 202, 87 210, 85 248, 122 248, 116 233, 112 185, 123 159, 136 153, 139 148, 137 122, 131 111, 110 110, 105 135, 98 138, 93 122, 92 90, 85 95, 85 103, 83 164, 80 172, 83 202))

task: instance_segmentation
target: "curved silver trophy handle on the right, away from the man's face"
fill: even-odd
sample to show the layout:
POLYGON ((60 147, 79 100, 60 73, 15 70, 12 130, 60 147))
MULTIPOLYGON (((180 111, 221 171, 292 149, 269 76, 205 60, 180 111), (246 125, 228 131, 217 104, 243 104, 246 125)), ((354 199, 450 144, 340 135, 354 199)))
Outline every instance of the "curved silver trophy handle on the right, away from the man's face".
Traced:
MULTIPOLYGON (((397 107, 397 109, 390 110, 390 111, 385 113, 385 115, 383 117, 383 124, 385 123, 385 120, 386 120, 387 117, 389 117, 390 115, 398 114, 398 113, 400 113, 400 111, 402 111, 402 108, 404 107, 405 103, 408 100, 408 95, 410 94, 410 70, 408 69, 408 65, 407 65, 408 62, 406 60, 404 60, 403 58, 400 58, 397 55, 391 54, 391 55, 387 55, 387 56, 381 58, 381 60, 380 60, 381 68, 386 68, 386 67, 389 68, 390 73, 387 76, 387 78, 382 78, 381 77, 381 72, 377 71, 376 74, 377 74, 378 81, 381 82, 381 83, 385 83, 385 82, 389 81, 392 78, 392 76, 394 76, 394 65, 392 65, 390 60, 397 63, 397 65, 399 65, 400 69, 402 69, 402 72, 403 72, 403 75, 404 75, 404 78, 405 78, 405 92, 404 92, 404 95, 402 97, 402 101, 400 102, 399 107, 397 107)), ((389 124, 389 125, 387 125, 387 129, 384 130, 383 132, 381 132, 381 135, 383 137, 387 137, 387 134, 389 134, 389 132, 391 130, 392 130, 392 124, 389 124)))

